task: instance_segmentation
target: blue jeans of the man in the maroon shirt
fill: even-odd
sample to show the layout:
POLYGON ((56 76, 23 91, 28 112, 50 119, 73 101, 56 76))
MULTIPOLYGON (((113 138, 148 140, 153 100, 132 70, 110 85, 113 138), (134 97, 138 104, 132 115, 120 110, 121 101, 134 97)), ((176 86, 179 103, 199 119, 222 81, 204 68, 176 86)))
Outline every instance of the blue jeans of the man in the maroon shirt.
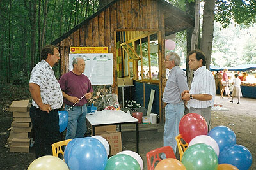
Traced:
MULTIPOLYGON (((71 106, 66 105, 65 110, 71 106)), ((68 111, 68 127, 65 139, 83 138, 86 127, 87 106, 74 106, 68 111)))

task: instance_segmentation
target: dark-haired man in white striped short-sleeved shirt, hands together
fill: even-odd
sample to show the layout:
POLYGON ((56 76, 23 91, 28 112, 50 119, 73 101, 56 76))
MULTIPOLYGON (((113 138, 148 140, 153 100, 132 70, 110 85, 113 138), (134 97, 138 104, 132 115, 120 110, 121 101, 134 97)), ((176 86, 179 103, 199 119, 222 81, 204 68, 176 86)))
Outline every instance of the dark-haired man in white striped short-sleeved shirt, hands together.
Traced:
POLYGON ((205 118, 211 129, 211 107, 214 105, 215 81, 211 71, 206 69, 206 57, 200 50, 188 53, 189 69, 194 71, 190 90, 182 92, 182 100, 188 101, 190 113, 198 113, 205 118))

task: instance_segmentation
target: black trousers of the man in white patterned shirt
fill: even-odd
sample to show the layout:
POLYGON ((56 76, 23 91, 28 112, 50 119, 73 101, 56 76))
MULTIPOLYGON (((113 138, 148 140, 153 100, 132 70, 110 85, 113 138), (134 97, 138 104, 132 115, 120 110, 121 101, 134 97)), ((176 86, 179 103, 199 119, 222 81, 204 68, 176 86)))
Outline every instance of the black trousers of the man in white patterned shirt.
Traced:
POLYGON ((36 158, 52 155, 52 143, 61 141, 58 110, 47 113, 31 106, 30 118, 35 137, 36 158))

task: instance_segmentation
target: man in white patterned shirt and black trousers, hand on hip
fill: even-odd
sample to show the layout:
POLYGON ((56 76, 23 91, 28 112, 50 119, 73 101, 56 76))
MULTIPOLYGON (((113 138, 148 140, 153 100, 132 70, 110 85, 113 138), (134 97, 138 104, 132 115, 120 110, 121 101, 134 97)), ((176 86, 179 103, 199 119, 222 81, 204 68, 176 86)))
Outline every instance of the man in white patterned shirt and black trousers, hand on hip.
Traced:
POLYGON ((60 60, 58 48, 44 46, 41 57, 41 62, 31 71, 29 80, 32 97, 30 118, 35 133, 36 158, 52 155, 52 143, 61 141, 58 109, 63 103, 60 84, 52 69, 60 60))

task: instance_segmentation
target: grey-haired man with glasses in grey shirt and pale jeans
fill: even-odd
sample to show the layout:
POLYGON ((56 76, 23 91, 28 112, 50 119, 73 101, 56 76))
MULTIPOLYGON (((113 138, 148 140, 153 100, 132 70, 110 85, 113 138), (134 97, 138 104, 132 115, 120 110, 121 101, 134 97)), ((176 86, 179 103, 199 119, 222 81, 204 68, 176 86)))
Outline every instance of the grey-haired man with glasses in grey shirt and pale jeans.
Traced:
POLYGON ((166 104, 164 146, 172 146, 175 153, 177 147, 175 137, 179 134, 179 122, 183 117, 185 110, 180 93, 189 88, 187 85, 186 74, 179 67, 180 57, 177 53, 167 53, 164 64, 166 68, 170 69, 162 99, 166 104))

